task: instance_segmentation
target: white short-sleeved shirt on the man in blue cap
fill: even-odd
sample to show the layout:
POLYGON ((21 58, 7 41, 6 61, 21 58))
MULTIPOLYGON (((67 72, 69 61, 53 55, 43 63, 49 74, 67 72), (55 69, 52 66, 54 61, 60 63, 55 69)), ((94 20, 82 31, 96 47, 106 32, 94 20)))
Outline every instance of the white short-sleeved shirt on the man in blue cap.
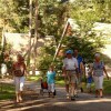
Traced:
POLYGON ((75 70, 78 68, 78 60, 75 58, 65 58, 63 60, 63 68, 65 68, 65 70, 75 70))

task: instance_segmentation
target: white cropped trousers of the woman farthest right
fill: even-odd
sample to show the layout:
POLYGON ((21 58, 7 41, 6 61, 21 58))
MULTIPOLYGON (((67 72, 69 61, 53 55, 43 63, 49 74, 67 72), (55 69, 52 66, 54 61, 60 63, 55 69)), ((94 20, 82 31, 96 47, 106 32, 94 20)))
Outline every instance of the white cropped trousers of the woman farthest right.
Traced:
POLYGON ((99 90, 99 89, 103 89, 103 75, 101 77, 93 77, 93 80, 94 80, 94 84, 95 84, 95 89, 99 90))

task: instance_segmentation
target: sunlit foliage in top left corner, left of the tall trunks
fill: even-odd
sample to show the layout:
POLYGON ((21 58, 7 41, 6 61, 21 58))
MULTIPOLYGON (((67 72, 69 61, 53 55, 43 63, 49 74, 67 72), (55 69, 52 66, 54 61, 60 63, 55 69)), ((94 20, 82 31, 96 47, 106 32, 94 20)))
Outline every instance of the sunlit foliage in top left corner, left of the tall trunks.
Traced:
POLYGON ((12 32, 28 31, 28 0, 0 0, 0 21, 6 23, 7 30, 12 32))

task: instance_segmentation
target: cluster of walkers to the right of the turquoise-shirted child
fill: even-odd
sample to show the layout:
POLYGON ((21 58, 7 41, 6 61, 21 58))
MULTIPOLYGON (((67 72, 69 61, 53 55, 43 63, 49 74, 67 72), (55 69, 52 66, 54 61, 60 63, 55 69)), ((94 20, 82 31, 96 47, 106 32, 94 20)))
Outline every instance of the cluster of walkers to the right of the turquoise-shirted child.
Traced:
MULTIPOLYGON (((103 61, 100 59, 100 53, 94 54, 94 61, 88 72, 88 88, 91 87, 92 78, 95 84, 95 97, 103 98, 103 72, 107 78, 107 73, 103 61)), ((65 82, 67 98, 75 100, 77 88, 80 85, 81 92, 83 92, 81 80, 84 73, 84 65, 82 57, 78 54, 78 50, 68 50, 65 52, 65 59, 63 60, 63 77, 65 82)))

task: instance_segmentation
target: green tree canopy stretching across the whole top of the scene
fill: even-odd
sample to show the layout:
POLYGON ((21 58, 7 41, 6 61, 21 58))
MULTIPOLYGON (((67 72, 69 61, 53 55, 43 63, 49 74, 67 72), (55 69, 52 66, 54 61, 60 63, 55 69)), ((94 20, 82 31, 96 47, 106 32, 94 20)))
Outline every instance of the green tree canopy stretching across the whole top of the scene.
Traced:
MULTIPOLYGON (((32 27, 34 28, 36 0, 33 0, 32 7, 32 27)), ((91 50, 93 54, 99 48, 103 47, 101 38, 97 38, 91 29, 94 22, 111 23, 111 0, 73 0, 73 2, 70 2, 70 0, 38 0, 38 13, 39 38, 54 36, 57 46, 67 18, 74 19, 80 31, 74 32, 74 36, 65 36, 62 43, 67 46, 67 49, 78 46, 81 54, 88 58, 85 52, 91 50)), ((0 32, 2 32, 4 26, 10 32, 28 32, 29 0, 0 0, 0 32)), ((43 63, 50 64, 56 46, 51 44, 51 47, 42 50, 44 57, 39 61, 41 67, 43 63)), ((90 58, 88 59, 90 60, 90 58)))

